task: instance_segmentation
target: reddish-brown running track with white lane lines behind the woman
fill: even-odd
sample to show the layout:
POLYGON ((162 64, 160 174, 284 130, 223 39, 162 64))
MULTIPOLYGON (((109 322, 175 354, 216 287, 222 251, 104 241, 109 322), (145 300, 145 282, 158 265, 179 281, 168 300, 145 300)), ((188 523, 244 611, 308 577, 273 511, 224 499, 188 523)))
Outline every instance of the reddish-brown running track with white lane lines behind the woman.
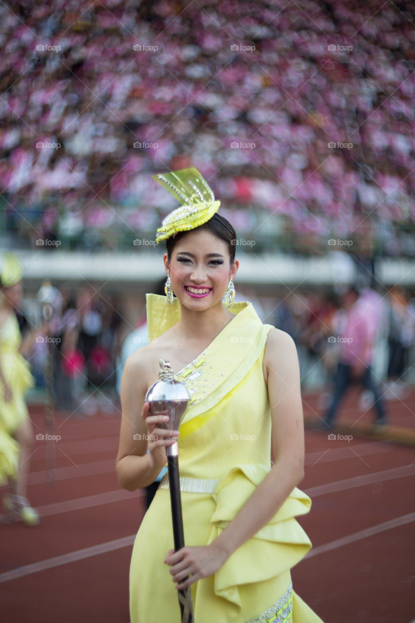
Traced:
MULTIPOLYGON (((304 397, 306 419, 316 418, 317 404, 316 396, 304 397)), ((415 427, 415 391, 388 406, 394 425, 415 427)), ((41 409, 31 414, 36 432, 44 432, 41 409)), ((340 416, 371 420, 355 394, 340 416)), ((57 415, 55 485, 47 482, 44 442, 36 442, 29 497, 42 523, 0 526, 3 621, 130 621, 128 567, 145 507, 141 491, 117 482, 119 425, 118 414, 57 415)), ((292 570, 295 591, 325 623, 413 622, 413 447, 357 436, 329 440, 318 430, 306 430, 305 446, 300 488, 313 503, 298 521, 313 548, 292 570)))

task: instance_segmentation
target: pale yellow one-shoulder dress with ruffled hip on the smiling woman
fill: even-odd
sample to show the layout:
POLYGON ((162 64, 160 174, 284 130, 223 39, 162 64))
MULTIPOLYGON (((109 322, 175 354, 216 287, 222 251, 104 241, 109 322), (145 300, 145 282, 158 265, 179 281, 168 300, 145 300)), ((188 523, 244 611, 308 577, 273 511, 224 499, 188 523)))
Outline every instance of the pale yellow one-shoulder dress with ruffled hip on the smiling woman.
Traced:
MULTIPOLYGON (((150 339, 179 318, 165 297, 147 295, 150 339)), ((262 373, 271 325, 251 303, 235 303, 235 317, 198 358, 176 374, 191 395, 179 429, 184 541, 211 543, 269 472, 271 419, 262 373)), ((322 623, 293 591, 290 569, 311 542, 295 520, 310 498, 295 487, 254 537, 212 576, 191 585, 195 623, 322 623)), ((163 563, 173 549, 168 477, 141 523, 130 566, 131 623, 179 621, 177 591, 163 563)))

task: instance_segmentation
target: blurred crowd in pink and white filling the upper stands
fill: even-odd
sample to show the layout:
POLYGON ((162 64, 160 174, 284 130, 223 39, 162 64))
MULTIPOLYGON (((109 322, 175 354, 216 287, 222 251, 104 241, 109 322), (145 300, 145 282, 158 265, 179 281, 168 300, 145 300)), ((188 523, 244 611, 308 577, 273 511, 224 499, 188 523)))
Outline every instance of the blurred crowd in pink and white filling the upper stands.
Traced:
POLYGON ((176 205, 151 174, 194 165, 241 235, 306 253, 351 239, 413 255, 414 9, 2 3, 0 213, 10 239, 131 245, 176 205))

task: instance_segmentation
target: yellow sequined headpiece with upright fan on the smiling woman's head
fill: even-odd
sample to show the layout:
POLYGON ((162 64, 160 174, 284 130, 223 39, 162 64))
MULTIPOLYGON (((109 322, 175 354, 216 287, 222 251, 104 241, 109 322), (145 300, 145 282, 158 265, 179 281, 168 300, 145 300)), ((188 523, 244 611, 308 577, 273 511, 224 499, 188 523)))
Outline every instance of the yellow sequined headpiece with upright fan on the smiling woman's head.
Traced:
POLYGON ((156 233, 156 242, 203 225, 221 205, 220 201, 215 201, 206 179, 194 167, 173 173, 159 173, 152 178, 181 203, 181 207, 170 212, 161 223, 156 233))

